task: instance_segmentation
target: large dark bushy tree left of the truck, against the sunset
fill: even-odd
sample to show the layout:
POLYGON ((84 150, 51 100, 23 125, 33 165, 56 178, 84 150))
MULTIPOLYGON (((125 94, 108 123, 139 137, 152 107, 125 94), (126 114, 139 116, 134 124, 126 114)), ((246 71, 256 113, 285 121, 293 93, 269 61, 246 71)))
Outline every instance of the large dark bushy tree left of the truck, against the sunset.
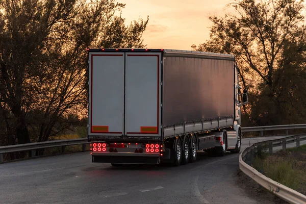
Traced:
POLYGON ((144 46, 148 19, 125 26, 116 16, 123 8, 114 0, 0 2, 0 102, 19 144, 46 141, 77 122, 69 115, 86 113, 87 47, 144 46))

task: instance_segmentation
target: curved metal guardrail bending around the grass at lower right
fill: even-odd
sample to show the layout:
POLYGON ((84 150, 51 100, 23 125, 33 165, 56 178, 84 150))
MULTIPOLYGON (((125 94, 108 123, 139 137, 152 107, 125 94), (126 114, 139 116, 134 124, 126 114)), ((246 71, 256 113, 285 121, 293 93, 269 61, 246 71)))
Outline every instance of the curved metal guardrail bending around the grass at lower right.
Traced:
POLYGON ((247 147, 240 154, 239 167, 241 171, 243 171, 251 179, 256 181, 267 190, 272 191, 279 198, 294 204, 306 203, 305 195, 273 181, 272 179, 268 178, 250 166, 255 156, 260 157, 263 152, 269 152, 269 154, 273 154, 273 147, 277 146, 282 146, 281 149, 286 150, 287 144, 290 143, 296 143, 296 146, 299 147, 300 141, 302 140, 306 140, 306 134, 254 143, 252 146, 247 147))

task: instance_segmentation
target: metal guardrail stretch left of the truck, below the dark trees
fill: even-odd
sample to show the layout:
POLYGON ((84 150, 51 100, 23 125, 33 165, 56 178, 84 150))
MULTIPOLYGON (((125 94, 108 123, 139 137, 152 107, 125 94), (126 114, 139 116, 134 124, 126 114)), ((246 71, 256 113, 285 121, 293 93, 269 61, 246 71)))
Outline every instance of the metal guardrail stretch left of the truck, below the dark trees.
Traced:
POLYGON ((50 147, 62 147, 62 152, 65 152, 65 147, 70 145, 81 145, 82 151, 86 150, 86 144, 89 142, 87 138, 79 138, 79 139, 67 139, 67 140, 53 140, 46 142, 34 142, 29 144, 17 144, 17 145, 9 145, 9 146, 0 146, 0 163, 4 162, 3 154, 16 152, 16 151, 31 151, 31 157, 36 156, 36 149, 50 148, 50 147))

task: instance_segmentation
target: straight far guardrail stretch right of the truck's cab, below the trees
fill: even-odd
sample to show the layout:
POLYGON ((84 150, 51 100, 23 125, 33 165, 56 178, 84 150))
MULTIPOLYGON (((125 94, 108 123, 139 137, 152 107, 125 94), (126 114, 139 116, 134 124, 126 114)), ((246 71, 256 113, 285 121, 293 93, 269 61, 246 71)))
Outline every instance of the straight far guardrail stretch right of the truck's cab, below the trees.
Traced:
POLYGON ((306 129, 306 124, 284 124, 269 126, 241 127, 241 132, 260 132, 260 136, 264 136, 264 131, 286 130, 286 135, 290 129, 306 129))

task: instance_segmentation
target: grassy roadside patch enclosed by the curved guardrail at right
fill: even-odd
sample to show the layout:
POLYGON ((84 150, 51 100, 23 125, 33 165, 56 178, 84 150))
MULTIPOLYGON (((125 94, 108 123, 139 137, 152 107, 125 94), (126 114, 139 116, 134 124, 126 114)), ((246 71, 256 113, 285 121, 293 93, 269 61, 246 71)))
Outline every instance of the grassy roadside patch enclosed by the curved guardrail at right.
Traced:
POLYGON ((306 195, 306 145, 256 158, 252 167, 270 179, 306 195))

